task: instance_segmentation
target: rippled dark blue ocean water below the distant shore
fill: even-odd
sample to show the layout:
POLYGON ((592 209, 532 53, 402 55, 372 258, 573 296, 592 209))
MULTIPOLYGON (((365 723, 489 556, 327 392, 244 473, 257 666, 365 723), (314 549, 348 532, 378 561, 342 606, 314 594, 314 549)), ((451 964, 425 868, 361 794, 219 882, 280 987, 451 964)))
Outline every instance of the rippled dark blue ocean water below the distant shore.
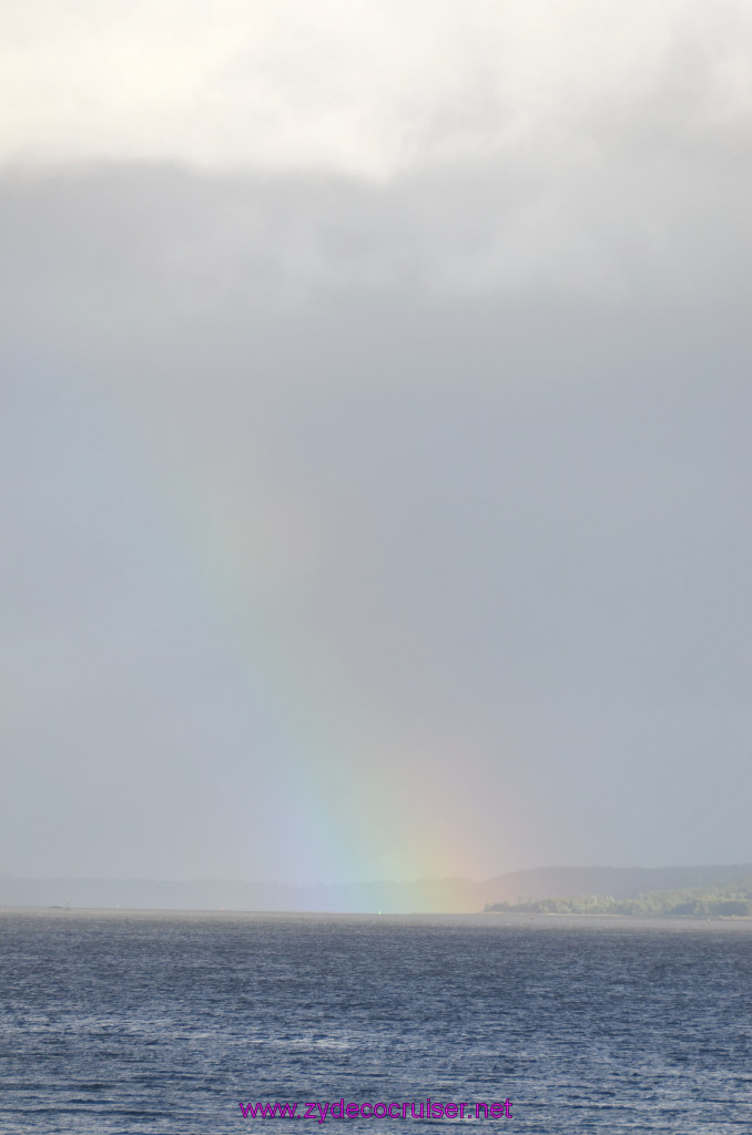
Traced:
POLYGON ((3 1135, 752 1132, 745 922, 5 911, 0 999, 3 1135))

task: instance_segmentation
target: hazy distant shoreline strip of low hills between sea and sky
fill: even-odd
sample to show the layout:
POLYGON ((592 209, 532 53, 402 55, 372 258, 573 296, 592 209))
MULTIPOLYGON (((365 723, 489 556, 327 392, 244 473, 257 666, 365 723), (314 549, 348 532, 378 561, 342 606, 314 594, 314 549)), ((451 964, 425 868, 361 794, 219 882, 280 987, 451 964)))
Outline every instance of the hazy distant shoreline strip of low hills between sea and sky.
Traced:
POLYGON ((1 907, 128 910, 475 914, 752 915, 752 864, 535 867, 481 881, 283 883, 222 878, 14 877, 1 907))

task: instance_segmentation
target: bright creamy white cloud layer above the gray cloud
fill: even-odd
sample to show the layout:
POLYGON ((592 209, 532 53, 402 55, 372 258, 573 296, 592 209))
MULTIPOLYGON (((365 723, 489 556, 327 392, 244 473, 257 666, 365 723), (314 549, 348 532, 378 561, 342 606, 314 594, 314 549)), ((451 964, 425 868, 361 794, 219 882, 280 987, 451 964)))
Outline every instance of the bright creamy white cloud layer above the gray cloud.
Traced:
POLYGON ((587 160, 635 121, 749 128, 751 56, 742 0, 25 0, 0 8, 0 160, 587 160))

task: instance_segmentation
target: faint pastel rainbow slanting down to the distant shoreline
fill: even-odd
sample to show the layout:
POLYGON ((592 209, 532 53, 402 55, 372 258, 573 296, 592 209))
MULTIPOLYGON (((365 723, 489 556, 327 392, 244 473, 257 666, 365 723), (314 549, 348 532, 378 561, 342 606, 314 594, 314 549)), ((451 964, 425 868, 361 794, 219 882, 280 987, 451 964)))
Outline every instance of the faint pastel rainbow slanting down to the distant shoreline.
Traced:
MULTIPOLYGON (((264 735, 236 762, 227 822, 237 824, 241 798, 248 823, 264 813, 275 819, 264 859, 249 851, 237 877, 449 880, 450 894, 458 876, 488 874, 483 839, 498 821, 481 794, 468 807, 459 783, 474 767, 477 738, 432 737, 431 723, 390 720, 320 612, 304 619, 287 609, 304 573, 325 570, 327 516, 275 485, 258 447, 207 443, 200 414, 167 430, 152 407, 144 413, 145 402, 110 396, 105 417, 148 482, 179 602, 200 611, 231 659, 234 688, 262 707, 264 735)), ((83 397, 106 400, 101 387, 83 397)), ((509 822, 507 810, 499 823, 509 822)))

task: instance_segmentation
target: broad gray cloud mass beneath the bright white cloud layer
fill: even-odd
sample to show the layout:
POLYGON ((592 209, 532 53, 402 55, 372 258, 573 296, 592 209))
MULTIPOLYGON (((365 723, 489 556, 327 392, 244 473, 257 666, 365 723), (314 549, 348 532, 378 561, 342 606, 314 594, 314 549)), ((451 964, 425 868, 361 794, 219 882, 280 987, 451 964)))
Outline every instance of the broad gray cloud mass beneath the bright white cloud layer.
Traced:
POLYGON ((511 799, 476 874, 749 858, 749 151, 671 129, 6 174, 14 871, 346 877, 228 823, 306 763, 511 799))

